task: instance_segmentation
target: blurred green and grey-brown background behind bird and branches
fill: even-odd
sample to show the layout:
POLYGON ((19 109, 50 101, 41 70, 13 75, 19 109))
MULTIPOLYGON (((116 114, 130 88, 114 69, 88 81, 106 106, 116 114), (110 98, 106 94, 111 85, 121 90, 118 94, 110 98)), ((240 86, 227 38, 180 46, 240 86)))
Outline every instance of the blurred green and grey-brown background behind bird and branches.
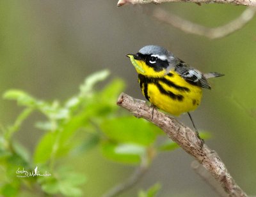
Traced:
MULTIPOLYGON (((211 80, 212 91, 204 91, 193 119, 198 128, 211 133, 207 145, 218 152, 237 184, 256 194, 256 18, 225 38, 209 40, 150 17, 157 6, 207 27, 223 25, 245 9, 224 4, 117 8, 116 1, 1 1, 1 94, 15 88, 36 98, 64 101, 76 94, 86 76, 107 68, 111 78, 125 81, 127 94, 144 99, 125 54, 148 44, 161 45, 201 71, 225 73, 211 80)), ((12 124, 21 112, 15 102, 4 99, 0 108, 1 126, 12 124)), ((34 126, 38 119, 40 114, 33 115, 15 134, 31 153, 43 135, 34 126)), ((178 119, 191 126, 187 115, 178 119)), ((164 152, 139 184, 121 196, 136 196, 138 189, 156 182, 162 184, 159 196, 216 196, 191 170, 191 161, 183 150, 164 152)), ((134 170, 106 160, 97 149, 68 163, 88 178, 85 196, 100 196, 134 170)))

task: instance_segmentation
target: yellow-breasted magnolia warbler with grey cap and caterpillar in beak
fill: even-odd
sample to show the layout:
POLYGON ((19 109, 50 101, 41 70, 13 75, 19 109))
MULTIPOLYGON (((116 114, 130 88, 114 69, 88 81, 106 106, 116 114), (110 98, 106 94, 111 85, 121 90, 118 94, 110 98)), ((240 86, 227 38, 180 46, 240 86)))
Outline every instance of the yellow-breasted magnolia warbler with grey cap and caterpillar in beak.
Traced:
POLYGON ((138 72, 138 82, 145 98, 153 106, 179 116, 188 112, 198 135, 190 111, 202 98, 202 87, 211 89, 207 78, 221 77, 220 73, 203 74, 175 57, 163 47, 148 45, 137 54, 128 54, 138 72))

